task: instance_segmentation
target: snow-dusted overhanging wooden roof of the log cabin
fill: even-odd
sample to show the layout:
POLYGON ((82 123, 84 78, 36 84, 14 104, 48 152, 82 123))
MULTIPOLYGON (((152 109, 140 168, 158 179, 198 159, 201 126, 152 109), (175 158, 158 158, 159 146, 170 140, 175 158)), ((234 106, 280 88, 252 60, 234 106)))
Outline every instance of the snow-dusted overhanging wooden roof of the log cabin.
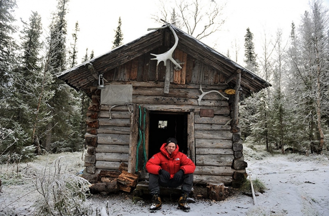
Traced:
MULTIPOLYGON (((250 93, 258 92, 263 88, 271 86, 269 82, 193 38, 191 35, 177 27, 172 26, 172 28, 179 38, 178 49, 214 69, 219 70, 227 77, 227 82, 232 82, 234 84, 235 79, 230 78, 234 77, 238 70, 241 70, 241 87, 245 94, 249 95, 250 93)), ((90 87, 98 84, 99 74, 108 72, 156 48, 172 46, 172 44, 174 44, 174 38, 168 28, 151 31, 137 40, 64 71, 58 78, 65 81, 71 87, 82 90, 90 95, 90 87), (167 43, 167 41, 169 41, 170 44, 164 44, 167 43)))

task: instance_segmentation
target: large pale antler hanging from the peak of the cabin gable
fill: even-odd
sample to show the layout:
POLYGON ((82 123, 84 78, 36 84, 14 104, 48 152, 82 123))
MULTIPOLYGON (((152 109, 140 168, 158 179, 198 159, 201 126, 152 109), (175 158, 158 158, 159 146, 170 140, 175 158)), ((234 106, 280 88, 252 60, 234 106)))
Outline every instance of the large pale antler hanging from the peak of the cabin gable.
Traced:
POLYGON ((158 64, 161 61, 164 61, 164 66, 166 66, 167 65, 167 60, 169 59, 172 63, 174 63, 176 65, 175 69, 176 70, 180 70, 180 69, 182 69, 182 67, 172 58, 172 54, 173 54, 173 52, 176 49, 177 44, 178 44, 178 37, 177 37, 177 34, 174 31, 174 29, 172 29, 171 24, 170 23, 167 23, 163 27, 159 27, 159 28, 147 28, 147 30, 149 31, 149 30, 161 29, 161 28, 166 28, 166 27, 169 27, 169 29, 172 31, 172 33, 173 33, 173 35, 175 37, 175 44, 174 44, 174 46, 172 48, 170 48, 170 50, 168 50, 167 52, 165 52, 163 54, 151 54, 151 55, 154 55, 155 56, 155 58, 151 58, 151 60, 158 60, 158 64))

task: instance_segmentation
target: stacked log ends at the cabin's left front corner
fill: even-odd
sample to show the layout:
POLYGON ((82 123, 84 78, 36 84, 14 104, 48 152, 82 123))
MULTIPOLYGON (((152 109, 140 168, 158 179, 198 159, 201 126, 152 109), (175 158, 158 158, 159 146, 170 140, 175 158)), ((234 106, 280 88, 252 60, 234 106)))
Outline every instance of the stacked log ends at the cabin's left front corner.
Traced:
POLYGON ((86 116, 86 134, 84 135, 85 147, 87 153, 84 157, 83 178, 90 183, 97 182, 96 174, 96 147, 97 147, 97 129, 99 128, 98 116, 100 111, 100 91, 96 87, 91 90, 91 103, 88 107, 86 116))

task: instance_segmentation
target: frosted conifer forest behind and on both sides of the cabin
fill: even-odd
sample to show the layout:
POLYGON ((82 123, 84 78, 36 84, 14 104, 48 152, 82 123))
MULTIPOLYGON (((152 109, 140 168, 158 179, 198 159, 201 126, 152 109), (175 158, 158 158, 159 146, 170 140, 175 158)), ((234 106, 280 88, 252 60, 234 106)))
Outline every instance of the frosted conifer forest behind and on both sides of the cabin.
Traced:
MULTIPOLYGON (((16 7, 16 0, 0 0, 0 162, 28 161, 46 152, 82 151, 90 99, 57 76, 93 58, 94 53, 85 48, 78 50, 79 21, 74 33, 67 33, 69 0, 57 0, 50 26, 42 26, 45 18, 33 11, 29 20, 21 21, 22 27, 15 26, 16 7), (14 34, 19 34, 19 39, 14 34), (78 59, 78 52, 85 52, 83 59, 78 59)), ((162 13, 169 16, 167 19, 159 16, 176 22, 177 27, 202 41, 199 35, 206 36, 205 32, 189 31, 184 26, 188 16, 182 16, 179 9, 184 8, 162 13)), ((113 22, 118 27, 114 29, 112 49, 122 45, 125 36, 121 18, 113 22)), ((262 52, 255 51, 252 29, 247 28, 241 38, 244 59, 238 63, 272 84, 241 98, 242 137, 263 145, 268 152, 327 154, 328 8, 321 0, 314 0, 301 14, 300 24, 290 25, 288 39, 277 29, 274 36, 258 45, 262 52)), ((220 34, 220 30, 209 33, 220 34)), ((234 52, 225 55, 230 57, 234 52)))

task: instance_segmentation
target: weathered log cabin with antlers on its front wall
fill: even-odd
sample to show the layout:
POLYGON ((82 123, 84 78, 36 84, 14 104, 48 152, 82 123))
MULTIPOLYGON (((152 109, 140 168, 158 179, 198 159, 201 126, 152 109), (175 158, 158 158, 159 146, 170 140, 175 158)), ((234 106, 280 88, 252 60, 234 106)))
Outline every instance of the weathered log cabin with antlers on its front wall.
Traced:
POLYGON ((196 165, 194 183, 232 187, 240 186, 247 167, 241 99, 271 86, 170 24, 58 78, 91 98, 84 178, 93 181, 124 162, 128 173, 147 180, 146 161, 175 137, 196 165))

